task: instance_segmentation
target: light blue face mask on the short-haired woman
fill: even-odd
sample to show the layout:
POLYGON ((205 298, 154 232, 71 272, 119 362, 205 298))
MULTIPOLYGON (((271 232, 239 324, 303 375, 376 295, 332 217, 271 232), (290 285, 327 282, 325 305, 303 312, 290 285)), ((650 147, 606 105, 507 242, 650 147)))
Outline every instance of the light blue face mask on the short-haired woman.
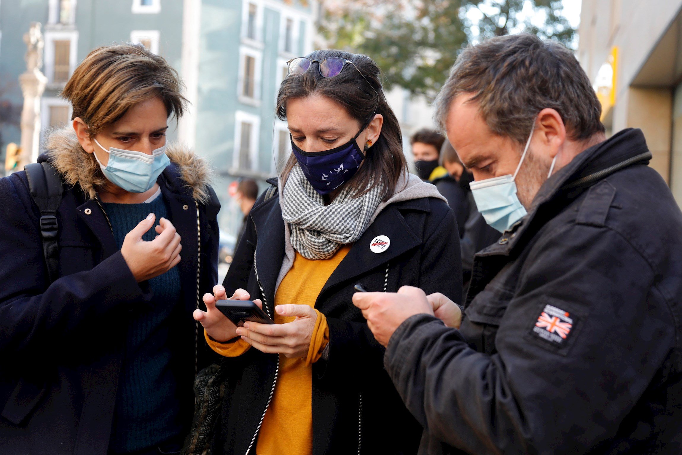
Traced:
POLYGON ((141 151, 115 149, 114 147, 109 147, 107 150, 98 143, 97 139, 95 143, 100 146, 100 149, 109 153, 106 166, 102 165, 97 158, 97 153, 94 153, 104 177, 128 192, 143 193, 150 190, 159 175, 170 164, 166 156, 165 144, 152 151, 151 155, 147 155, 141 151))

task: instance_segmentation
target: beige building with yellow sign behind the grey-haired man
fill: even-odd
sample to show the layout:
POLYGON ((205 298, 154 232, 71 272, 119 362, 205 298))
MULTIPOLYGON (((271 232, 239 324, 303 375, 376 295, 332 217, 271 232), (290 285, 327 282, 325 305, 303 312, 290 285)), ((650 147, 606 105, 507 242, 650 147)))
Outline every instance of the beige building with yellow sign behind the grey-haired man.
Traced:
POLYGON ((578 59, 610 134, 641 128, 682 205, 682 0, 583 0, 578 59))

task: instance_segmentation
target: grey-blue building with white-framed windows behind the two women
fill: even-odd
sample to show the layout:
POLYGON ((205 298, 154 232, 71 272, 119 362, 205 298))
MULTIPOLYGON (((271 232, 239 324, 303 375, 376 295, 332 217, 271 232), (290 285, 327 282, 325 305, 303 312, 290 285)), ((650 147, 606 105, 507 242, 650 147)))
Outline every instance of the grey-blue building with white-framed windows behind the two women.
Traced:
MULTIPOLYGON (((42 138, 68 123, 59 98, 90 50, 117 42, 142 43, 173 65, 192 103, 168 138, 187 143, 217 171, 224 209, 221 229, 239 228, 227 187, 239 177, 265 186, 277 160, 289 153, 286 125, 273 115, 286 61, 312 50, 313 0, 0 0, 0 108, 23 104, 18 76, 25 71, 23 35, 42 23, 48 83, 41 102, 42 138), (3 104, 4 103, 4 104, 3 104)), ((18 123, 0 115, 2 153, 20 142, 18 123)))

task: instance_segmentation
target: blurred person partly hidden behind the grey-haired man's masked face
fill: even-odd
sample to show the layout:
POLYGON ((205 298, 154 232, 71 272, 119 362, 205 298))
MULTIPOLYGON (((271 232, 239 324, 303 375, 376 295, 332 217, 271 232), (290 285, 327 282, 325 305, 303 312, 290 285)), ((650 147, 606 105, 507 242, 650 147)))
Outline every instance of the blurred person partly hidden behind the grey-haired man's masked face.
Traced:
POLYGON ((464 167, 457 156, 457 152, 447 139, 441 149, 441 164, 447 169, 449 175, 437 179, 434 181, 434 185, 446 197, 457 217, 460 247, 462 248, 462 292, 466 295, 473 269, 473 256, 486 246, 494 244, 500 238, 500 232, 489 226, 476 208, 476 201, 474 201, 469 187, 473 181, 473 174, 464 167), (460 192, 454 190, 454 179, 456 179, 456 185, 460 192), (447 188, 443 188, 445 185, 447 188), (453 196, 448 197, 449 194, 453 196))

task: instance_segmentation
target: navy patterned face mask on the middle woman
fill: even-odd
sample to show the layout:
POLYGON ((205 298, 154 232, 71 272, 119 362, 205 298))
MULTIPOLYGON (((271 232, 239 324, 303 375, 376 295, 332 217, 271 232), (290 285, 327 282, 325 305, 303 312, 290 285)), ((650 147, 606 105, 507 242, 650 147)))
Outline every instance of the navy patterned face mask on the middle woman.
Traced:
POLYGON ((303 175, 321 196, 339 188, 353 178, 365 159, 356 139, 365 128, 361 128, 353 138, 339 147, 325 151, 303 151, 291 141, 291 150, 301 166, 303 175))

